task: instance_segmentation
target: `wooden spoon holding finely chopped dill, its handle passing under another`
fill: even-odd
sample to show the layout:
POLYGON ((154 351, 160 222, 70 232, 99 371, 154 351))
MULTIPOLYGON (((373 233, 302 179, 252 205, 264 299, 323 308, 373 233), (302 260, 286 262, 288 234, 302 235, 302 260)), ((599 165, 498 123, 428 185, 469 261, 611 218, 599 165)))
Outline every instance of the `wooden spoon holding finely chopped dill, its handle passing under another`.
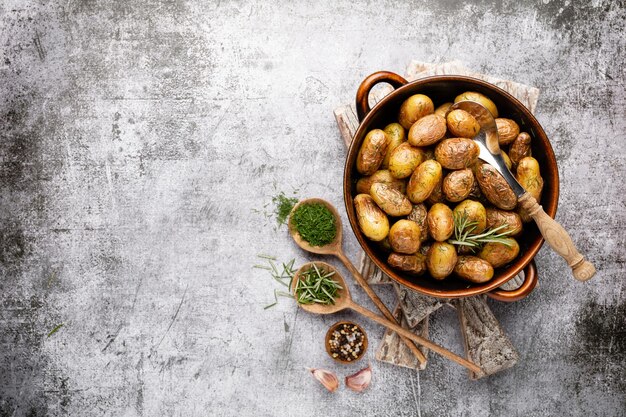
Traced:
MULTIPOLYGON (((341 246, 342 236, 343 236, 342 226, 341 226, 341 217, 339 217, 339 212, 337 212, 337 209, 332 204, 330 204, 326 200, 322 200, 321 198, 308 198, 306 200, 300 201, 291 210, 291 215, 289 216, 289 234, 291 234, 291 237, 293 238, 293 240, 295 240, 296 244, 307 252, 316 253, 318 255, 334 255, 337 258, 339 258, 339 260, 345 265, 345 267, 348 268, 352 276, 354 276, 354 279, 356 279, 356 282, 361 286, 361 288, 363 288, 363 290, 365 290, 365 292, 370 297, 370 299, 374 302, 374 304, 376 304, 376 307, 378 307, 378 310, 380 310, 380 312, 383 313, 383 315, 389 321, 392 321, 398 324, 395 317, 393 316, 393 314, 391 314, 387 306, 385 306, 385 304, 381 301, 381 299, 378 298, 378 295, 376 295, 376 293, 374 292, 374 290, 372 290, 372 288, 369 286, 367 281, 365 281, 365 279, 363 278, 359 270, 356 269, 356 267, 352 264, 352 262, 350 262, 350 260, 344 253, 343 248, 341 246), (296 230, 295 226, 292 224, 291 217, 293 216, 293 213, 295 213, 295 211, 298 209, 298 207, 300 207, 303 204, 323 204, 331 211, 331 213, 333 213, 333 216, 335 216, 335 227, 337 228, 337 235, 335 236, 335 239, 332 242, 324 246, 313 246, 306 240, 302 239, 302 236, 300 236, 300 233, 298 233, 298 230, 296 230)), ((415 355, 415 357, 420 362, 420 364, 422 365, 425 364, 426 357, 417 348, 417 346, 415 346, 415 344, 411 342, 408 338, 403 337, 402 335, 400 335, 400 337, 402 337, 402 341, 408 346, 411 352, 413 352, 413 355, 415 355)))

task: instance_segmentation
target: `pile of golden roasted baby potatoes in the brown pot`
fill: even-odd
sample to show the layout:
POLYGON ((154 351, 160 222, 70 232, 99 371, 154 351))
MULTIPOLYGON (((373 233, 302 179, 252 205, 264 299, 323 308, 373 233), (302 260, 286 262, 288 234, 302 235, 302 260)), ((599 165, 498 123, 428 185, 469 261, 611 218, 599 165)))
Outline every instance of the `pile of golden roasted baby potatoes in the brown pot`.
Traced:
MULTIPOLYGON (((483 94, 468 91, 454 102, 461 100, 476 101, 493 114, 506 164, 540 201, 543 179, 531 136, 514 120, 499 117, 483 94)), ((472 140, 480 131, 476 119, 464 110, 450 111, 452 104, 435 108, 428 96, 415 94, 402 103, 396 123, 367 133, 356 160, 362 176, 354 205, 361 231, 388 253, 393 268, 485 283, 494 268, 519 255, 516 237, 531 219, 500 173, 478 159, 472 140), (459 243, 481 235, 489 240, 494 229, 499 237, 493 242, 459 243)))

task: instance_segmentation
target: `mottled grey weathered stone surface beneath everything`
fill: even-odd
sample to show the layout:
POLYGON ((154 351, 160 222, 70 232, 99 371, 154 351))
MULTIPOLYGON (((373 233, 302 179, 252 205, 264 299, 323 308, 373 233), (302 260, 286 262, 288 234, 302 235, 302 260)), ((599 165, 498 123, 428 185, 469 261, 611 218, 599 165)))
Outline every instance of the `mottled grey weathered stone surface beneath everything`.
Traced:
MULTIPOLYGON (((626 414, 624 2, 61 3, 0 3, 0 416, 626 414), (304 366, 358 366, 327 327, 383 330, 264 311, 255 254, 307 256, 252 210, 294 189, 341 207, 332 109, 412 58, 541 89, 557 217, 599 273, 544 248, 540 287, 492 303, 509 371, 370 349, 372 387, 331 395, 304 366)), ((460 351, 456 328, 444 311, 433 338, 460 351)))

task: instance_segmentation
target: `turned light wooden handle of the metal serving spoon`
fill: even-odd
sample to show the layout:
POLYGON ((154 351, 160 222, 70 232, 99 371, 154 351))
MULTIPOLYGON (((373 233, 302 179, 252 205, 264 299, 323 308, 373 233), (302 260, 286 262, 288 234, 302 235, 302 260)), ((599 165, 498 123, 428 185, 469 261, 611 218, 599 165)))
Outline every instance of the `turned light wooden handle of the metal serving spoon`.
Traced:
POLYGON ((584 256, 576 250, 572 238, 565 229, 563 229, 563 226, 552 217, 548 216, 539 203, 537 203, 537 200, 528 192, 522 194, 518 201, 520 206, 526 210, 528 215, 537 223, 537 227, 546 242, 548 242, 556 253, 567 261, 572 268, 574 278, 579 281, 591 279, 596 273, 596 268, 591 262, 585 260, 584 256))

